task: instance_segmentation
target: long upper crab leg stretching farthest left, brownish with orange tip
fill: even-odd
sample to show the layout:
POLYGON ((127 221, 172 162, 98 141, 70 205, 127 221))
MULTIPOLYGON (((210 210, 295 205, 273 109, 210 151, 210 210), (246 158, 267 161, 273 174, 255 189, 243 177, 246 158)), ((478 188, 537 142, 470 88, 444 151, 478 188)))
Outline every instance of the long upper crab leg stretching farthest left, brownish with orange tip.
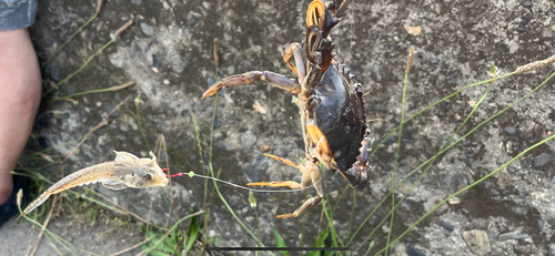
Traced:
POLYGON ((272 86, 276 86, 279 89, 283 89, 285 91, 292 92, 292 93, 299 93, 301 92, 301 86, 296 84, 293 80, 290 78, 270 72, 270 71, 250 71, 245 72, 242 74, 235 74, 228 76, 223 79, 222 81, 212 84, 203 94, 202 98, 204 99, 205 96, 210 96, 220 90, 222 88, 233 88, 233 86, 239 86, 243 84, 248 84, 253 82, 254 80, 262 80, 264 82, 270 83, 272 86))

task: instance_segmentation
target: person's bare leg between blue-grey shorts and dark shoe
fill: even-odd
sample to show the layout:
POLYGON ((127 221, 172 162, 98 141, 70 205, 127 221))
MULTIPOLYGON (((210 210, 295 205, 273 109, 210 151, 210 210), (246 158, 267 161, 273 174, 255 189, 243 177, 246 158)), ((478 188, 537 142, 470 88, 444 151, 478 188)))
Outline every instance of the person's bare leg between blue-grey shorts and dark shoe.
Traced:
POLYGON ((31 133, 41 90, 28 29, 0 31, 0 205, 12 196, 11 172, 31 133))

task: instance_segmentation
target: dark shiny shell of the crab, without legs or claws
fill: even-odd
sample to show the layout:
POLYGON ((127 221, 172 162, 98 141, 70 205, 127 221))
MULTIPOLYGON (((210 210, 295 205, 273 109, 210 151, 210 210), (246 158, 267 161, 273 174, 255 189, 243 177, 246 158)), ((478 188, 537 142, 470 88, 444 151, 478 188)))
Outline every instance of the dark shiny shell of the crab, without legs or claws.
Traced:
POLYGON ((313 120, 333 152, 334 163, 329 170, 340 171, 351 186, 362 188, 369 175, 367 160, 357 157, 366 155, 361 152, 366 135, 361 84, 349 78, 345 65, 333 63, 331 66, 313 91, 307 123, 313 120))

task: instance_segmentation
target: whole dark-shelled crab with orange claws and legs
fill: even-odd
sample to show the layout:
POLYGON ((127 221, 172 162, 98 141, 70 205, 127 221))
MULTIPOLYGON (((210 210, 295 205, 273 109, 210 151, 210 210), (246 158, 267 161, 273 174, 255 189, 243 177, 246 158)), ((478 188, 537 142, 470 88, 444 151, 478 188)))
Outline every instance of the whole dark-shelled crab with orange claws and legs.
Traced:
POLYGON ((305 201, 296 211, 278 215, 278 218, 297 217, 306 208, 317 205, 324 196, 320 163, 332 172, 339 172, 354 188, 366 185, 369 176, 370 131, 364 119, 361 84, 345 65, 333 58, 331 29, 341 19, 334 18, 344 0, 331 0, 325 4, 314 0, 306 14, 306 43, 303 54, 300 43, 290 44, 283 60, 296 74, 296 81, 270 71, 250 71, 228 76, 210 86, 206 98, 223 88, 232 88, 262 80, 273 86, 297 94, 301 126, 306 161, 300 165, 285 158, 265 154, 299 168, 301 183, 258 182, 248 185, 289 186, 293 190, 314 184, 316 195, 305 201), (291 63, 294 58, 294 64, 291 63))

